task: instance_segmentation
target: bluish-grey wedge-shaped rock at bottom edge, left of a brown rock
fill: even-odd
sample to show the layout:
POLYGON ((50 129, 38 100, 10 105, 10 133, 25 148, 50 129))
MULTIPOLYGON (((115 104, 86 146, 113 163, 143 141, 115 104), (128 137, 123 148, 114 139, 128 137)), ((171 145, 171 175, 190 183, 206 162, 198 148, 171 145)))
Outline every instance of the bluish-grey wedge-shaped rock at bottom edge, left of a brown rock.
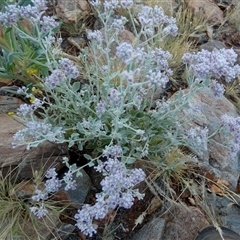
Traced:
POLYGON ((162 238, 165 225, 166 220, 164 218, 155 218, 144 225, 130 240, 170 240, 169 238, 162 238))

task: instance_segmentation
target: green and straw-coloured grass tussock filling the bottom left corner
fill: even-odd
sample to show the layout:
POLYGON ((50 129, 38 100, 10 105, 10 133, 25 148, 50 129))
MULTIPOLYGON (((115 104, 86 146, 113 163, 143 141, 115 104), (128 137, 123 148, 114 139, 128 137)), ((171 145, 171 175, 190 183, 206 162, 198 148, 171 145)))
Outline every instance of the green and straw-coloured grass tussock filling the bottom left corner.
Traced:
POLYGON ((32 206, 41 206, 41 202, 34 203, 31 196, 36 189, 40 189, 43 178, 36 172, 33 180, 17 182, 16 169, 3 175, 0 171, 0 239, 4 240, 36 240, 46 239, 46 231, 52 234, 59 214, 63 207, 58 207, 53 201, 44 204, 49 214, 37 219, 31 211, 32 206), (13 175, 14 174, 14 175, 13 175))

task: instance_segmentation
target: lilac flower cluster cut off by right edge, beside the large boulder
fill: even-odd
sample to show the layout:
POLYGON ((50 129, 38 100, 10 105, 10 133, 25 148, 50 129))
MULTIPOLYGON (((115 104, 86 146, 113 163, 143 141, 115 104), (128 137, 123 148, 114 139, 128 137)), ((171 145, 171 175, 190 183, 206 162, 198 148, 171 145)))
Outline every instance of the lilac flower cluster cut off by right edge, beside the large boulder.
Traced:
POLYGON ((229 158, 234 160, 240 151, 240 117, 234 118, 227 114, 221 117, 223 126, 227 127, 232 134, 230 142, 229 158))

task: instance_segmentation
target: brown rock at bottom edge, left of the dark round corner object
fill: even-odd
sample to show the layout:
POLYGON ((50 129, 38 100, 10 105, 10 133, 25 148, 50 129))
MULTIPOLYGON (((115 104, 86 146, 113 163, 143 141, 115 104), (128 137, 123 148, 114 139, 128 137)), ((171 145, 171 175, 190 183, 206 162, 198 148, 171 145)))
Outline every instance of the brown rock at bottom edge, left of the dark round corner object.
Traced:
POLYGON ((204 213, 199 208, 181 206, 170 209, 170 212, 173 219, 166 224, 161 240, 194 239, 202 228, 209 225, 204 213))

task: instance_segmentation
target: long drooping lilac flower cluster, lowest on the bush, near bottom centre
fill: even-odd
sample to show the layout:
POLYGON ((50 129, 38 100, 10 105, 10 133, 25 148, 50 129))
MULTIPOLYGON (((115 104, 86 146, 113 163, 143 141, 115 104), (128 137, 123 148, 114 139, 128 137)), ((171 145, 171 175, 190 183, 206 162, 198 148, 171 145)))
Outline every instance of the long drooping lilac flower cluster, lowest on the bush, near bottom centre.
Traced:
POLYGON ((117 145, 106 147, 103 156, 107 161, 95 167, 105 176, 100 183, 102 192, 96 195, 95 205, 85 204, 75 215, 76 226, 88 236, 96 233, 97 225, 93 224, 93 219, 103 219, 117 206, 130 208, 134 197, 144 197, 138 189, 131 188, 144 180, 145 173, 142 169, 126 169, 124 163, 117 159, 122 156, 122 148, 117 145))

